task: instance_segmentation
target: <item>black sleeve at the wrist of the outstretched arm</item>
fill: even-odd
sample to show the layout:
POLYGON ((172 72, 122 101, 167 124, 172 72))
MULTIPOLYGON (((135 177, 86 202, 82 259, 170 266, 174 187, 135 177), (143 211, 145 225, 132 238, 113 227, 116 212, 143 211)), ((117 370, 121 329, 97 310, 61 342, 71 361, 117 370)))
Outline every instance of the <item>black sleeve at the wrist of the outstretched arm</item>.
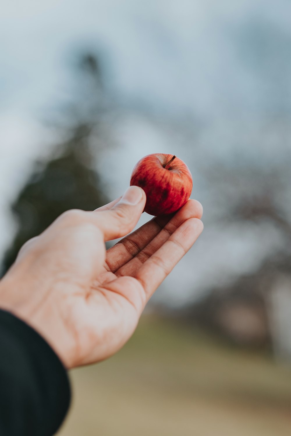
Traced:
POLYGON ((0 310, 0 436, 51 436, 70 403, 67 372, 47 342, 0 310))

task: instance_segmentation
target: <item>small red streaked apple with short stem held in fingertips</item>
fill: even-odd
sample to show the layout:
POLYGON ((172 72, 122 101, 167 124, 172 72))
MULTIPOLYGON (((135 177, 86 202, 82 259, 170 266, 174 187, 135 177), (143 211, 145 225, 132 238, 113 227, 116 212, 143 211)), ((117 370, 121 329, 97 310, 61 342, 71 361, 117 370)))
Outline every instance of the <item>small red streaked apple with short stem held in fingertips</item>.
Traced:
POLYGON ((187 165, 173 154, 148 154, 134 167, 130 186, 147 195, 144 211, 150 215, 171 214, 190 198, 192 175, 187 165))

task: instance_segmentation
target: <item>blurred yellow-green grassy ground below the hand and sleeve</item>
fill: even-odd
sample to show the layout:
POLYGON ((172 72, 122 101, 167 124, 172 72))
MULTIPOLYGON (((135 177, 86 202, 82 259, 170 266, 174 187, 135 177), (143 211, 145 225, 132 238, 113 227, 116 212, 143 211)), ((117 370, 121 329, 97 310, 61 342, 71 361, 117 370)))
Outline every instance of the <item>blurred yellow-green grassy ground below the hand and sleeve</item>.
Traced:
POLYGON ((290 436, 291 367, 144 316, 113 358, 71 372, 58 436, 290 436))

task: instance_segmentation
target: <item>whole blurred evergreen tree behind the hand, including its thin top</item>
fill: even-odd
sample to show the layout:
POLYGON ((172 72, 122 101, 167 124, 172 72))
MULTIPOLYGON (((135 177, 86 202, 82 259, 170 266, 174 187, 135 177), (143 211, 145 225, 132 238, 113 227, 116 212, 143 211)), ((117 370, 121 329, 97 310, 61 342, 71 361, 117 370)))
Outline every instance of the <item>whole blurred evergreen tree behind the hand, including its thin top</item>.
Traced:
MULTIPOLYGON (((85 54, 79 65, 86 74, 95 76, 98 99, 102 91, 99 61, 92 54, 85 54)), ((97 109, 99 102, 95 101, 94 105, 97 109)), ((62 212, 75 208, 94 210, 107 202, 99 174, 92 169, 93 156, 89 146, 92 131, 94 141, 102 143, 102 121, 96 115, 99 111, 93 109, 87 112, 91 117, 84 119, 84 106, 86 103, 81 102, 82 113, 78 117, 78 103, 72 105, 70 126, 66 128, 68 139, 55 147, 49 160, 35 164, 31 176, 11 205, 18 221, 18 232, 4 256, 2 275, 12 265, 24 242, 43 232, 62 212)))

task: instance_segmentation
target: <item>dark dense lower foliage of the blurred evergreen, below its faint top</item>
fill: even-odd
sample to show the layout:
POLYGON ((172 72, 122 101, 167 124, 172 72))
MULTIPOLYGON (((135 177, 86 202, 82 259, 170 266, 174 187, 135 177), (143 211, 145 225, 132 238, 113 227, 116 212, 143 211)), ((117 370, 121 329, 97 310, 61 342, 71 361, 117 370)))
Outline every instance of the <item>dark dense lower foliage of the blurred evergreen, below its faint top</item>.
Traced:
POLYGON ((88 136, 88 126, 78 126, 59 157, 35 166, 11 206, 19 230, 4 257, 3 272, 14 262, 24 242, 43 232, 62 212, 94 210, 106 203, 98 174, 87 166, 88 136))

